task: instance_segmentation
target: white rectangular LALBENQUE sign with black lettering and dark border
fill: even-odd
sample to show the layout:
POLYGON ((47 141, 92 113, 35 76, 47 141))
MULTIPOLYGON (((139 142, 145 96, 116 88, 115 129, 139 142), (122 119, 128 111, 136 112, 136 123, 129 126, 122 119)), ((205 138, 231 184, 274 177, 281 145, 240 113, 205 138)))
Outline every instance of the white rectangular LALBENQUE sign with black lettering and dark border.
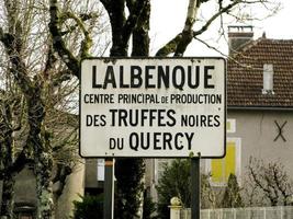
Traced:
POLYGON ((225 66, 223 58, 83 60, 80 154, 223 157, 225 66))

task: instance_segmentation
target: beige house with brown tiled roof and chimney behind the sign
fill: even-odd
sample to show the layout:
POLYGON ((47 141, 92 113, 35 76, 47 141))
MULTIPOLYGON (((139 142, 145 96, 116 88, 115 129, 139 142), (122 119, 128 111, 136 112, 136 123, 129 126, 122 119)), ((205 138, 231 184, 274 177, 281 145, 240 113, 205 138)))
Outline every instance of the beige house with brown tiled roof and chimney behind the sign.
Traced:
MULTIPOLYGON (((224 159, 202 160, 214 186, 230 173, 243 184, 250 158, 281 162, 293 178, 293 41, 253 39, 252 26, 229 26, 227 60, 227 143, 224 159)), ((148 184, 156 199, 161 165, 148 162, 148 184)))

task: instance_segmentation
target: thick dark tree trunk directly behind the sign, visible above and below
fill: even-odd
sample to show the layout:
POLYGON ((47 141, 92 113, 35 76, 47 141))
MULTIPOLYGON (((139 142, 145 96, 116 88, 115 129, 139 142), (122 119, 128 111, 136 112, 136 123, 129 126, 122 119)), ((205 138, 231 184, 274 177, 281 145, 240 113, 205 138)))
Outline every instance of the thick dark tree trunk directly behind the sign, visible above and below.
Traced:
MULTIPOLYGON (((128 42, 133 36, 132 56, 147 57, 149 54, 149 0, 126 1, 129 15, 125 18, 125 0, 101 1, 110 16, 112 28, 111 57, 126 57, 128 42)), ((116 159, 117 180, 115 197, 115 218, 142 218, 144 194, 144 159, 116 159), (129 174, 131 173, 131 174, 129 174)))

